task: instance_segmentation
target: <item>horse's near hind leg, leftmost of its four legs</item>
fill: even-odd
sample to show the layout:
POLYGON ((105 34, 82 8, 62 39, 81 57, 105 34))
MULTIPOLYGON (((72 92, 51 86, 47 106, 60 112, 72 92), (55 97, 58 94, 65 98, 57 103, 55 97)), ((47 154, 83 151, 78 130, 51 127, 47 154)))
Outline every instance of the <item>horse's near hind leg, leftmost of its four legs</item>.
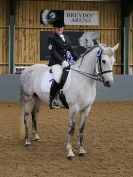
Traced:
POLYGON ((31 99, 32 97, 28 97, 28 96, 24 97, 25 147, 31 146, 31 142, 29 140, 29 130, 28 130, 31 99))

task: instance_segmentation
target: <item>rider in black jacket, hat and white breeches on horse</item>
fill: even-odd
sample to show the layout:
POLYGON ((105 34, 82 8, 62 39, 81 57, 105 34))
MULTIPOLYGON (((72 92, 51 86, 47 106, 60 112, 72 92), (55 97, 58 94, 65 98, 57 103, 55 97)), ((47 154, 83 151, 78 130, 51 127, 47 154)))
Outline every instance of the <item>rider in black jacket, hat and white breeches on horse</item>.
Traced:
POLYGON ((53 33, 48 37, 48 49, 51 53, 49 66, 52 69, 54 77, 49 96, 50 109, 59 107, 59 104, 57 104, 57 102, 54 100, 59 89, 63 69, 69 67, 69 63, 65 58, 66 52, 69 51, 75 61, 78 59, 78 55, 73 51, 71 47, 70 38, 64 35, 63 31, 64 22, 57 20, 53 23, 53 33))

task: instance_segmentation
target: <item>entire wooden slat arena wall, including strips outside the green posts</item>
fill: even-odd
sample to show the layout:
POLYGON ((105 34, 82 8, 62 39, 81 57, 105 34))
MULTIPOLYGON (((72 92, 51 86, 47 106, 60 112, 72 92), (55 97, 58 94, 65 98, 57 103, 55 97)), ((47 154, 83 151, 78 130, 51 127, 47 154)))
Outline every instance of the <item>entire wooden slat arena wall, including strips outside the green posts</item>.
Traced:
MULTIPOLYGON (((100 42, 114 46, 121 43, 121 7, 119 2, 87 1, 39 1, 16 0, 15 15, 15 66, 29 66, 40 61, 40 31, 51 31, 51 25, 40 23, 40 11, 55 10, 98 10, 99 26, 66 26, 66 31, 95 31, 100 42)), ((8 24, 9 1, 0 0, 0 74, 8 73, 8 24)), ((133 13, 130 15, 130 66, 133 67, 133 13)), ((45 50, 45 49, 44 49, 45 50)), ((121 74, 121 44, 115 54, 115 74, 121 74)))

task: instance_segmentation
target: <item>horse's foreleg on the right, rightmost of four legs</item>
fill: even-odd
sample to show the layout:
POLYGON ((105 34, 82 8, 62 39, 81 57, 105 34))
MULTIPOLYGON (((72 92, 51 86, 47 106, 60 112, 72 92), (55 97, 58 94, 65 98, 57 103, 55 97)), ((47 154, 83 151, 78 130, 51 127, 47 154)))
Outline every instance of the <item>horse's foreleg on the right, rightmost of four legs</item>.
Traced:
POLYGON ((83 132, 84 132, 84 127, 85 127, 85 120, 89 114, 91 106, 87 107, 85 110, 81 111, 80 114, 80 128, 79 128, 79 155, 80 156, 85 156, 86 151, 84 150, 83 147, 83 132))

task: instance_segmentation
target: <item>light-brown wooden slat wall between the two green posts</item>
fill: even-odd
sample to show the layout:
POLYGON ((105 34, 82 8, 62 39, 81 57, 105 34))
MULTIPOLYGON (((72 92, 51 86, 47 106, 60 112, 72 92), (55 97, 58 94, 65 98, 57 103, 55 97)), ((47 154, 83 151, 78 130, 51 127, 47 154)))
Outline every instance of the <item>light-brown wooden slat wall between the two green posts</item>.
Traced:
MULTIPOLYGON (((51 25, 40 24, 40 11, 55 10, 98 10, 99 26, 66 26, 66 31, 97 31, 100 42, 114 46, 120 42, 120 4, 100 2, 25 1, 16 4, 16 65, 45 63, 40 61, 40 31, 51 31, 51 25)), ((116 53, 115 74, 120 74, 120 49, 116 53)))

